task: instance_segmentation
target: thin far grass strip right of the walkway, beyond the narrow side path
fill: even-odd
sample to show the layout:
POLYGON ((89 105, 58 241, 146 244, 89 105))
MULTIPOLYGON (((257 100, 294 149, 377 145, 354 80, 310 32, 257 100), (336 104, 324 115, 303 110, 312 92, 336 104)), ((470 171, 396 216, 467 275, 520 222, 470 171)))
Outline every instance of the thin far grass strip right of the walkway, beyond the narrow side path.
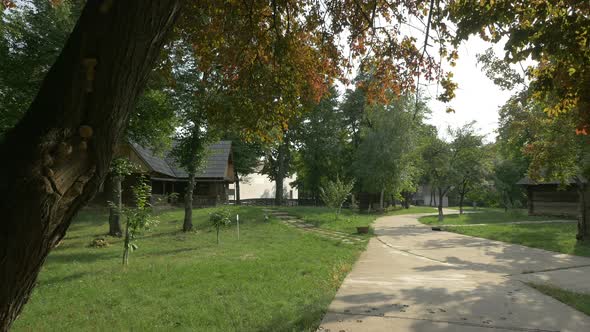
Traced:
POLYGON ((509 210, 504 212, 499 209, 478 209, 477 212, 467 210, 470 213, 449 214, 444 217, 442 222, 438 221, 438 216, 422 217, 419 221, 427 225, 468 225, 468 224, 495 224, 514 221, 538 221, 538 220, 557 220, 564 219, 563 217, 547 217, 547 216, 529 216, 527 211, 523 209, 509 210))

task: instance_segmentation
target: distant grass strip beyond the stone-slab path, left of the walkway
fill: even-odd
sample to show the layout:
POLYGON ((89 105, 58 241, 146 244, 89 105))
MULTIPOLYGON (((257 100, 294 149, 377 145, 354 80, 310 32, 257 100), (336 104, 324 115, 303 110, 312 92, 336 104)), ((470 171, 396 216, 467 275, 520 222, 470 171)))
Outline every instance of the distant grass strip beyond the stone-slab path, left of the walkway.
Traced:
POLYGON ((279 210, 288 212, 289 214, 305 220, 320 228, 332 229, 345 233, 356 233, 357 226, 369 226, 375 219, 385 215, 401 215, 412 213, 435 213, 436 209, 426 206, 412 206, 409 209, 395 209, 387 213, 355 213, 349 209, 342 209, 339 218, 336 220, 333 209, 327 207, 313 207, 313 206, 296 206, 285 207, 279 210))

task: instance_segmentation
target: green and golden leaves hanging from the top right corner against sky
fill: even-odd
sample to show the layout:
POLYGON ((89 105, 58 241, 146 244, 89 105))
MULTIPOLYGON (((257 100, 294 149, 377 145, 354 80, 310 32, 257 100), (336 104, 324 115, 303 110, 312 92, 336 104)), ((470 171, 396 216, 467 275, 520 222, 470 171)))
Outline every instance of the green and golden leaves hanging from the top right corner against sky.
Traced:
POLYGON ((587 1, 454 1, 445 15, 457 24, 458 42, 471 34, 500 42, 505 60, 536 61, 529 68, 527 100, 549 115, 570 113, 574 130, 590 131, 590 7, 587 1))

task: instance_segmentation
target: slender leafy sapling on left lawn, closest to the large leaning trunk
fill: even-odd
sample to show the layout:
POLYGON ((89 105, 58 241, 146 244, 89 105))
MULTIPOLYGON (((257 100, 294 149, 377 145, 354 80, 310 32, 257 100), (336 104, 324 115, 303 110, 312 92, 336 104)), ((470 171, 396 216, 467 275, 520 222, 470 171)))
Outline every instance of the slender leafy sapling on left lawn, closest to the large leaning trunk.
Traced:
POLYGON ((135 243, 137 235, 144 230, 155 226, 158 219, 152 216, 150 196, 152 186, 146 179, 141 179, 132 187, 135 206, 122 208, 121 214, 125 217, 125 240, 123 243, 123 265, 129 262, 129 251, 138 249, 135 243))

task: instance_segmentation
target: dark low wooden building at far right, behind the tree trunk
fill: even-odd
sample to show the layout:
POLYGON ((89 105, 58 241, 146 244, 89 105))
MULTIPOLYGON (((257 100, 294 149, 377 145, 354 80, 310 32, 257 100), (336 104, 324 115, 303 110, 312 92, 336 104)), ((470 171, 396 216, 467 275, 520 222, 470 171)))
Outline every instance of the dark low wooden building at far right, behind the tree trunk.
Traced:
POLYGON ((529 215, 577 217, 580 203, 584 204, 586 215, 590 213, 590 186, 585 178, 580 177, 579 180, 585 193, 585 202, 580 202, 578 184, 573 179, 565 187, 557 181, 535 182, 528 177, 517 184, 526 187, 529 215))

